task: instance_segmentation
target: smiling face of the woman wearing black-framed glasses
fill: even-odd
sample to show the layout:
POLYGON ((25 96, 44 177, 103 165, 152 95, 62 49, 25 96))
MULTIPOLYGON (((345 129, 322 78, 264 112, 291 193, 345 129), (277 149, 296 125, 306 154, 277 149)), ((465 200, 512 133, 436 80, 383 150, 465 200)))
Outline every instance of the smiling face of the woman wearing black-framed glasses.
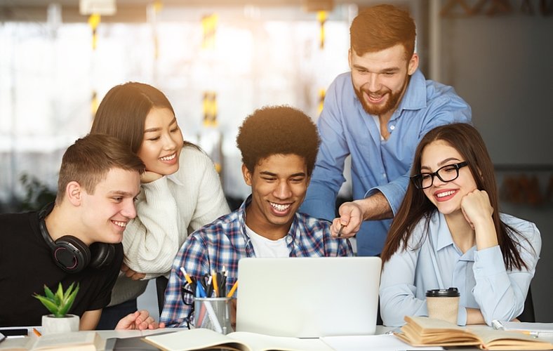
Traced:
MULTIPOLYGON (((450 164, 458 164, 465 161, 461 154, 444 140, 436 140, 429 143, 422 150, 420 159, 420 172, 432 173, 438 168, 450 164)), ((477 189, 477 183, 469 167, 459 169, 459 176, 451 182, 443 182, 434 176, 434 182, 431 187, 425 190, 426 197, 432 201, 432 204, 438 208, 438 211, 444 215, 451 215, 460 211, 461 200, 466 194, 477 189)))

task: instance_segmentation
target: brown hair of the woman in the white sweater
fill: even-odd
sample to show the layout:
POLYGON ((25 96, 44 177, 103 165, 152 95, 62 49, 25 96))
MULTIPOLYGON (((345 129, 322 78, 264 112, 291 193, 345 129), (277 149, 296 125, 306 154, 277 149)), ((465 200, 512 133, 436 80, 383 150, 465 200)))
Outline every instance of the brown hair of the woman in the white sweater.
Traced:
MULTIPOLYGON (((137 153, 142 145, 146 117, 153 107, 166 108, 175 115, 171 102, 153 86, 133 81, 114 86, 98 106, 91 133, 113 135, 137 153)), ((186 145, 196 147, 188 142, 186 145)))

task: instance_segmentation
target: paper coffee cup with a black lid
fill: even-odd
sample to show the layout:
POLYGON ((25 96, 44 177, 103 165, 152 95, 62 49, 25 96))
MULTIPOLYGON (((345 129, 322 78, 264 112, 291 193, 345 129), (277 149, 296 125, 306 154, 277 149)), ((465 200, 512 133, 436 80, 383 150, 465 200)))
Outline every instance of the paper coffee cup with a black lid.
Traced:
POLYGON ((428 290, 426 292, 428 317, 457 324, 459 296, 457 288, 428 290))

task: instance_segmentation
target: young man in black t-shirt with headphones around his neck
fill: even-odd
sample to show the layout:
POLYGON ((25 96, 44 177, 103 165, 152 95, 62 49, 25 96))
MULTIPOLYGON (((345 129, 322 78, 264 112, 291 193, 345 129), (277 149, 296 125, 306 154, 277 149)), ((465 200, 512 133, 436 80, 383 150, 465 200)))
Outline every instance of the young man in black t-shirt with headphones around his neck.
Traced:
MULTIPOLYGON (((144 164, 116 138, 87 135, 62 158, 55 204, 0 215, 0 326, 36 326, 48 310, 33 293, 79 284, 69 313, 92 330, 107 306, 123 262, 123 232, 136 216, 144 164)), ((154 329, 147 311, 116 329, 154 329)))

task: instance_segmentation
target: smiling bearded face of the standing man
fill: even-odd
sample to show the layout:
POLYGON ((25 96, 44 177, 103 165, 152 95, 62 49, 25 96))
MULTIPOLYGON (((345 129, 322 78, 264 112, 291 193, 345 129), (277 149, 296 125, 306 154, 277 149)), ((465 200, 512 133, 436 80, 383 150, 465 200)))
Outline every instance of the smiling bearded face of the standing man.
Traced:
POLYGON ((418 67, 418 55, 405 58, 398 44, 382 51, 357 55, 349 50, 349 68, 357 98, 368 114, 392 114, 404 95, 409 76, 418 67))

